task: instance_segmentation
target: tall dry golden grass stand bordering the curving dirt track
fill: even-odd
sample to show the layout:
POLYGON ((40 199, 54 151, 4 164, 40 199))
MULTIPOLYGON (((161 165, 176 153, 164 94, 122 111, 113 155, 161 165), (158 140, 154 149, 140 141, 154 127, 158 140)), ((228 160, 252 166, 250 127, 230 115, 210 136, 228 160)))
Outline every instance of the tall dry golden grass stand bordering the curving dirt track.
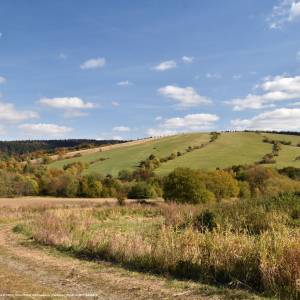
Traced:
POLYGON ((271 224, 259 234, 247 231, 243 223, 235 224, 240 228, 233 227, 228 220, 222 220, 212 231, 198 231, 192 220, 204 209, 207 207, 166 204, 54 209, 42 212, 18 230, 73 255, 205 283, 289 295, 291 299, 299 297, 298 227, 276 224, 281 216, 274 211, 271 224))

